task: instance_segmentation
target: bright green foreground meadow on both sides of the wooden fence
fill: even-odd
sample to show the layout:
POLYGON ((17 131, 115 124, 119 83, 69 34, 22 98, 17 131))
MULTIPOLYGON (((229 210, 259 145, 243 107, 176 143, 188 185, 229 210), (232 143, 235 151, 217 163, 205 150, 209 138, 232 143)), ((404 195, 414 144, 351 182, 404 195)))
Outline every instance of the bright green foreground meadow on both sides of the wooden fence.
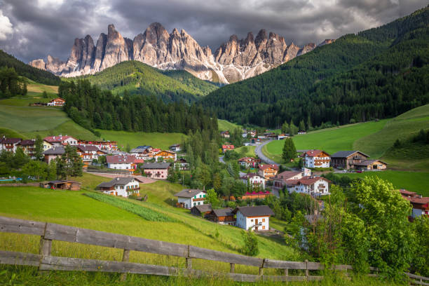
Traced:
MULTIPOLYGON (((83 182, 83 186, 91 188, 100 180, 106 180, 95 175, 84 175, 74 178, 83 182)), ((151 222, 138 217, 136 214, 121 210, 107 203, 102 203, 87 196, 83 191, 59 191, 40 189, 37 187, 0 188, 0 215, 32 219, 43 222, 53 222, 70 226, 78 226, 99 231, 121 233, 130 236, 139 236, 172 243, 191 244, 212 250, 238 253, 242 245, 240 229, 233 226, 221 226, 208 222, 200 217, 189 214, 189 210, 171 206, 172 194, 182 189, 179 184, 156 182, 141 184, 141 193, 147 193, 147 202, 134 203, 136 206, 149 208, 154 212, 168 214, 177 222, 151 222), (217 236, 216 233, 219 233, 217 236)), ((284 222, 272 220, 271 226, 283 230, 284 222)), ((272 259, 302 260, 300 254, 287 247, 282 239, 257 236, 259 257, 272 259)), ((0 249, 8 251, 22 251, 37 253, 39 251, 38 236, 23 236, 13 233, 0 233, 0 249)), ((86 259, 120 260, 121 250, 77 243, 54 241, 52 252, 56 256, 81 257, 86 259)), ((185 266, 185 260, 176 257, 167 257, 157 254, 131 252, 130 261, 146 264, 162 264, 168 266, 185 266)), ((229 264, 214 261, 193 259, 193 268, 209 271, 229 271, 229 264)), ((237 273, 257 274, 258 268, 236 265, 237 273)), ((0 266, 0 282, 6 285, 243 285, 219 278, 189 280, 188 278, 165 278, 147 275, 128 275, 126 281, 120 280, 120 275, 112 273, 67 273, 53 272, 50 275, 36 275, 36 268, 0 266), (12 273, 15 276, 12 277, 12 273), (12 280, 12 283, 10 283, 12 280)), ((265 269, 264 274, 273 275, 276 272, 265 269)), ((276 273, 279 274, 279 273, 276 273)), ((378 280, 368 278, 353 278, 341 280, 339 276, 327 278, 323 282, 304 282, 304 285, 383 285, 378 280)), ((259 285, 258 283, 252 285, 259 285)), ((261 285, 268 285, 261 282, 261 285)), ((277 285, 275 282, 269 285, 277 285)), ((280 285, 280 284, 278 284, 280 285)), ((284 285, 282 283, 281 285, 284 285)), ((291 284, 293 285, 293 284, 291 284)), ((297 285, 303 285, 299 282, 297 285)))

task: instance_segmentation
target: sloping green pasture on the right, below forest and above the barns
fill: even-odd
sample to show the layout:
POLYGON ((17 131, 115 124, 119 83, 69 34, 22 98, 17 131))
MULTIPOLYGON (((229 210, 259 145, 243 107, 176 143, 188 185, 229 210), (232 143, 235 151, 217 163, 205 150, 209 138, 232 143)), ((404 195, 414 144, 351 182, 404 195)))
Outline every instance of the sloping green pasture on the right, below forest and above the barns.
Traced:
MULTIPOLYGON (((359 150, 381 158, 395 170, 429 171, 427 146, 409 145, 402 150, 390 151, 396 139, 409 139, 421 129, 429 128, 429 104, 417 107, 392 119, 378 122, 327 128, 293 137, 297 149, 322 149, 329 154, 341 150, 359 150)), ((262 149, 274 161, 281 161, 283 142, 273 141, 262 149)))

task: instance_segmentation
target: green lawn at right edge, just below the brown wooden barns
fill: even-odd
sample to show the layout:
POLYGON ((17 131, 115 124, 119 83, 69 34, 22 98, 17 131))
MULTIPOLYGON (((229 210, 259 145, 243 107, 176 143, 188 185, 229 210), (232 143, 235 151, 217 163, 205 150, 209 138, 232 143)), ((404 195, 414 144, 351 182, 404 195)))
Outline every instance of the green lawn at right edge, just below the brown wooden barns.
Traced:
POLYGON ((429 196, 429 189, 427 180, 429 172, 407 172, 407 171, 394 171, 386 170, 381 172, 362 172, 362 173, 347 173, 338 174, 350 178, 377 176, 381 179, 386 179, 395 186, 397 189, 407 189, 415 191, 423 196, 429 196))

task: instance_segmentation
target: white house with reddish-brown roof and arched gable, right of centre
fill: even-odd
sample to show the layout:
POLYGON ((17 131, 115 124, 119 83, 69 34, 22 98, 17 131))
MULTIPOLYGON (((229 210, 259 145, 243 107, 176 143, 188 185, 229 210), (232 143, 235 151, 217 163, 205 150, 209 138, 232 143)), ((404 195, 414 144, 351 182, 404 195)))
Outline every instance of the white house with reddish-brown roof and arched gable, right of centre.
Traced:
POLYGON ((306 176, 301 179, 287 179, 285 185, 290 193, 307 193, 311 196, 329 195, 329 179, 324 177, 306 176))

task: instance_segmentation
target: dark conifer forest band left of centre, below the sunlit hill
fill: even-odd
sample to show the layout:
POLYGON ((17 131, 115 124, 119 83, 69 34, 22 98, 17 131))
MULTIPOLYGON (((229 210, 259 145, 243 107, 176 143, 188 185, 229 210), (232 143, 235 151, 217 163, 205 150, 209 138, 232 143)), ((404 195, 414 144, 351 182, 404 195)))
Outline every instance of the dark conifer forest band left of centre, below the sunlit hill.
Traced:
POLYGON ((88 80, 64 81, 58 94, 67 104, 64 110, 79 125, 94 130, 182 132, 208 130, 218 135, 217 118, 196 104, 184 102, 165 104, 154 95, 114 95, 100 90, 88 80))

